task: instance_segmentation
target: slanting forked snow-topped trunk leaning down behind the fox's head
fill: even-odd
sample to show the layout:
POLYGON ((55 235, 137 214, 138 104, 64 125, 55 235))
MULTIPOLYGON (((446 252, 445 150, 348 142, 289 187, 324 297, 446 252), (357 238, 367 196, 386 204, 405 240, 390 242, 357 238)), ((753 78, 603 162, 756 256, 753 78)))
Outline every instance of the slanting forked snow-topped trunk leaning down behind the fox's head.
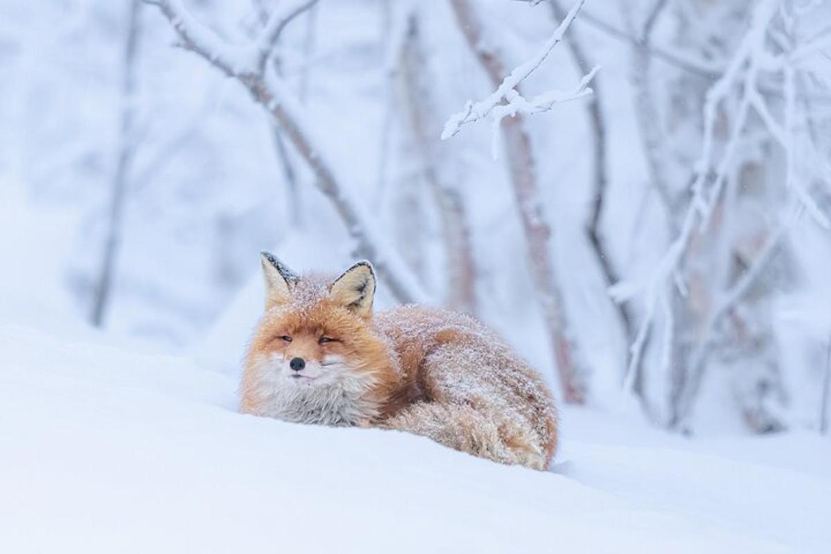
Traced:
POLYGON ((184 47, 202 56, 225 75, 239 81, 248 89, 254 101, 268 111, 278 122, 298 154, 315 174, 317 189, 332 203, 347 232, 355 242, 355 254, 366 257, 375 265, 381 278, 399 302, 430 303, 430 296, 396 252, 386 246, 371 225, 371 218, 361 208, 342 179, 335 172, 322 141, 317 140, 312 127, 302 117, 302 106, 288 86, 268 67, 273 46, 280 32, 303 10, 317 0, 286 0, 281 2, 266 23, 261 36, 251 45, 229 45, 196 21, 180 0, 145 0, 160 8, 183 42, 184 47))

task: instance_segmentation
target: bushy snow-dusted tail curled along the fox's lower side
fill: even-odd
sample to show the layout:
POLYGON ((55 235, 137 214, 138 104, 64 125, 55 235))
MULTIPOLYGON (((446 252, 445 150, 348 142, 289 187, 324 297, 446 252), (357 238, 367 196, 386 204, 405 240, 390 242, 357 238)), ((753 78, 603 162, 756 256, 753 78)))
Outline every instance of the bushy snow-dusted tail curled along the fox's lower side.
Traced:
POLYGON ((541 470, 548 467, 545 446, 528 425, 467 404, 413 404, 381 426, 420 434, 451 449, 494 462, 541 470))

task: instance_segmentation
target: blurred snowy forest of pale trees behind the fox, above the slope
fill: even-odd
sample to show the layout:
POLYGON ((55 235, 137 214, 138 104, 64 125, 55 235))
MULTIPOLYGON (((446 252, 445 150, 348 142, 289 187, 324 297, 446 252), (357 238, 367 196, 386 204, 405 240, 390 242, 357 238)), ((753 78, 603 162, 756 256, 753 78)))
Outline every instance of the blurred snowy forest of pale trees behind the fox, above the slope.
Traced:
POLYGON ((831 2, 584 3, 0 0, 0 316, 234 374, 260 250, 366 257, 563 402, 826 430, 831 2))

